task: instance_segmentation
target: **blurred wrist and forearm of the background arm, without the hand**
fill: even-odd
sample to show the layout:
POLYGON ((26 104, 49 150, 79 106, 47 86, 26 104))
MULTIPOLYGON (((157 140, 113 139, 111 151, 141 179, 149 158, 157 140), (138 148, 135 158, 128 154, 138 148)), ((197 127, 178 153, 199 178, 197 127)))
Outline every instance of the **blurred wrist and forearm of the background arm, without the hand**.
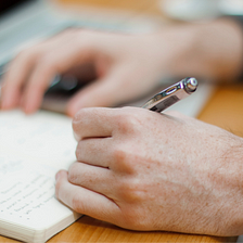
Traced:
POLYGON ((233 80, 242 72, 243 31, 229 18, 169 27, 156 39, 163 43, 159 51, 167 62, 164 57, 159 62, 169 76, 233 80))

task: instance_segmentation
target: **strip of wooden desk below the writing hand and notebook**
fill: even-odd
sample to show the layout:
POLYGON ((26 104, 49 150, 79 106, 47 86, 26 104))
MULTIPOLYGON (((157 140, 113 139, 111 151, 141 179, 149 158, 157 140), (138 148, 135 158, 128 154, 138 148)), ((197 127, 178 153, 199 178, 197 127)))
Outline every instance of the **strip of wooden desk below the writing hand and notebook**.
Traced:
MULTIPOLYGON (((218 238, 172 232, 138 232, 84 216, 48 243, 235 243, 236 238, 218 238)), ((20 243, 0 236, 1 243, 20 243)))

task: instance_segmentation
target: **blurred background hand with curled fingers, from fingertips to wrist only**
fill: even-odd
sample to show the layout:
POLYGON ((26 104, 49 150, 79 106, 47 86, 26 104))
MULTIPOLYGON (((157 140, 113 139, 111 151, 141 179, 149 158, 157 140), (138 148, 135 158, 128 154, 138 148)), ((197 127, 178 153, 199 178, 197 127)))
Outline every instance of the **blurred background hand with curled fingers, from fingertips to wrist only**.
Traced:
POLYGON ((84 65, 93 67, 95 80, 69 101, 68 115, 74 116, 81 107, 113 106, 138 98, 153 89, 163 73, 157 42, 153 35, 66 30, 22 51, 10 64, 1 108, 21 105, 25 113, 35 112, 56 74, 84 65))

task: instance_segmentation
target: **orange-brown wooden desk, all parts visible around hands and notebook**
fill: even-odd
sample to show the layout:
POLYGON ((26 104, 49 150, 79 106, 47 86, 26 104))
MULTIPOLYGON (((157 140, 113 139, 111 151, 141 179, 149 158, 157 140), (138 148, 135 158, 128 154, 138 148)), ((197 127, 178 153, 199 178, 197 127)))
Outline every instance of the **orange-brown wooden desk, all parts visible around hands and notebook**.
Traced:
MULTIPOLYGON (((156 8, 156 0, 60 0, 67 4, 84 2, 108 8, 131 8, 152 14, 161 13, 156 8), (108 5, 110 3, 110 5, 108 5), (150 3, 150 4, 149 4, 150 3), (131 5, 130 5, 131 4, 131 5)), ((218 88, 208 101, 199 119, 217 125, 227 130, 243 136, 243 85, 218 88)), ((192 235, 171 232, 136 232, 124 230, 113 225, 84 216, 71 227, 60 232, 48 243, 234 243, 236 238, 217 238, 207 235, 192 235)), ((18 241, 0 236, 1 243, 16 243, 18 241)))

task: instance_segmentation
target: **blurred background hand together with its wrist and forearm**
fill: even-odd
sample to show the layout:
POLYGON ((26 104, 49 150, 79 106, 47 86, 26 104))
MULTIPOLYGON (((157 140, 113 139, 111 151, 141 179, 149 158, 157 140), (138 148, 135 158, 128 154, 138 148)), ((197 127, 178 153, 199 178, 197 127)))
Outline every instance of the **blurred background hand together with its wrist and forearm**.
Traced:
POLYGON ((241 69, 242 42, 241 29, 228 20, 166 27, 143 36, 69 29, 16 56, 3 78, 1 108, 37 111, 55 74, 80 72, 87 65, 94 81, 69 101, 69 116, 81 107, 136 99, 162 77, 233 79, 241 69))

